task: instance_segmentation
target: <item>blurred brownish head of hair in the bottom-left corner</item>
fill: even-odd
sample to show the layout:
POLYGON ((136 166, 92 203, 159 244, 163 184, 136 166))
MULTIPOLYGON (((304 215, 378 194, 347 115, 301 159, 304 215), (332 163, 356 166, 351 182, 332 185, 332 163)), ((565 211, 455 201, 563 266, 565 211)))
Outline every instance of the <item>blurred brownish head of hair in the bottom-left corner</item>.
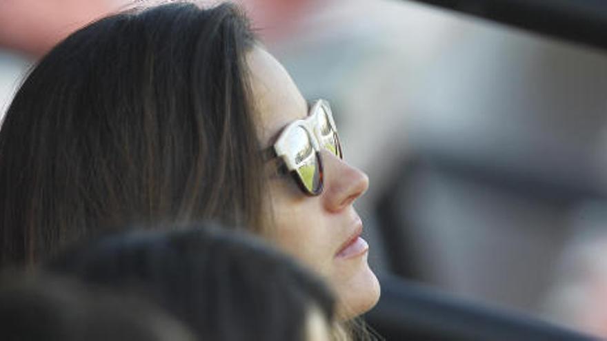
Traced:
POLYGON ((2 340, 197 340, 183 324, 133 296, 48 275, 6 273, 1 282, 2 340))

